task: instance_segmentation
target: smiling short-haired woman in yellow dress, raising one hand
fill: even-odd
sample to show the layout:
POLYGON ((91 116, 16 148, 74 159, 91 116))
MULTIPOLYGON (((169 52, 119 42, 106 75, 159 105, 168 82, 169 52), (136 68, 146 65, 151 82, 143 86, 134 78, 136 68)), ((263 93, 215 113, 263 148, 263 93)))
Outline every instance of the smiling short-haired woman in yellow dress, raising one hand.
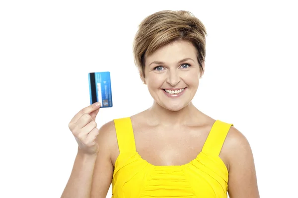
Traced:
POLYGON ((62 198, 258 198, 248 141, 193 104, 204 74, 206 30, 186 11, 159 11, 140 24, 135 63, 153 105, 99 130, 99 106, 70 122, 78 152, 62 198))

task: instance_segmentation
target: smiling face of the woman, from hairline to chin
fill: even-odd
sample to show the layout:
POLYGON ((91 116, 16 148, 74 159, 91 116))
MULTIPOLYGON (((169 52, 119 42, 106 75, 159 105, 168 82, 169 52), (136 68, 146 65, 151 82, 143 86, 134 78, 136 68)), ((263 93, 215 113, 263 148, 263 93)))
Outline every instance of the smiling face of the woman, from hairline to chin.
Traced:
POLYGON ((187 41, 170 43, 145 60, 145 84, 156 103, 179 111, 195 96, 200 76, 196 48, 187 41))

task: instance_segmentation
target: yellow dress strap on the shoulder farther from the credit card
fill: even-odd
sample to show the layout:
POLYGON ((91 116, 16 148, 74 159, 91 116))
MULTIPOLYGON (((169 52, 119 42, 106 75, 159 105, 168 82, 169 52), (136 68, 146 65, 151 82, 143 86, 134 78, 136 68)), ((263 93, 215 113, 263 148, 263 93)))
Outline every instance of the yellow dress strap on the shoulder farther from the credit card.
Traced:
POLYGON ((209 132, 202 151, 204 153, 218 156, 222 150, 225 137, 231 126, 233 126, 233 124, 228 124, 217 120, 209 132))

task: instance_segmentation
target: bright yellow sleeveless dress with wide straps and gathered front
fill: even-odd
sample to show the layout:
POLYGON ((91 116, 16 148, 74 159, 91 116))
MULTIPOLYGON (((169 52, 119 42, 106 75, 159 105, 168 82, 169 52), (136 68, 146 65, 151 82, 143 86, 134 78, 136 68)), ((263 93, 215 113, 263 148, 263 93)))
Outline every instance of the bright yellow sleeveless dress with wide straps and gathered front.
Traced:
POLYGON ((184 165, 154 166, 136 151, 130 118, 115 119, 120 154, 112 198, 227 198, 228 171, 219 157, 233 124, 217 120, 198 156, 184 165))

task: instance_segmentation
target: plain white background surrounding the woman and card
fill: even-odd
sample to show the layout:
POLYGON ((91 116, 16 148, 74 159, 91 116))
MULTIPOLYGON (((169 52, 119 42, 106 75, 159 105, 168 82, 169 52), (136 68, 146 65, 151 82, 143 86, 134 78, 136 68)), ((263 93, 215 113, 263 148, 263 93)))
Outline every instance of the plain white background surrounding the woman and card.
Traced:
POLYGON ((295 0, 2 0, 1 198, 61 196, 77 148, 68 124, 89 105, 88 72, 111 72, 114 106, 100 110, 98 126, 152 104, 132 42, 139 23, 164 9, 191 11, 207 29, 193 103, 247 137, 262 198, 297 195, 295 0))

